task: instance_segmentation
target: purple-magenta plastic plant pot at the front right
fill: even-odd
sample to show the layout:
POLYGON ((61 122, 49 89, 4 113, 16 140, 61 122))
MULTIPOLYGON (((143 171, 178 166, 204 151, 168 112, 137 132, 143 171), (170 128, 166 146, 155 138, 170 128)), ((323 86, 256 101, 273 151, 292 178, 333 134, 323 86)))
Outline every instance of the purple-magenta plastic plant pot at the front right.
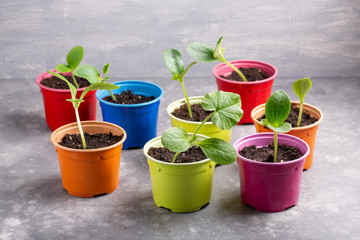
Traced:
POLYGON ((268 163, 247 159, 239 154, 244 147, 267 146, 274 141, 274 133, 256 133, 238 139, 240 192, 244 204, 257 211, 280 212, 295 206, 299 199, 302 167, 310 149, 300 138, 278 134, 278 143, 299 148, 302 157, 289 162, 268 163))

